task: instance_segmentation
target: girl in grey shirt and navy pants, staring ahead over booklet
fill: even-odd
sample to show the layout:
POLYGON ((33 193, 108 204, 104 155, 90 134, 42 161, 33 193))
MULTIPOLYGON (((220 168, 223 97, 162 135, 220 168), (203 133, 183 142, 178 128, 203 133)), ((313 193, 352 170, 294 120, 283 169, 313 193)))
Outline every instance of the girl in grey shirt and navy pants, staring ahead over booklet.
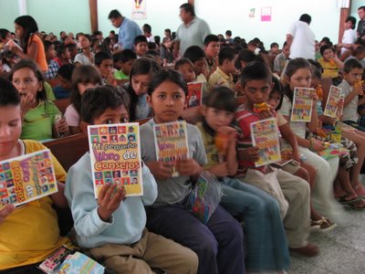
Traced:
POLYGON ((192 248, 199 258, 198 273, 245 273, 243 232, 234 217, 218 205, 203 224, 187 209, 192 184, 206 163, 198 129, 186 124, 188 159, 177 160, 175 166, 157 161, 153 126, 178 121, 186 94, 186 83, 176 70, 161 70, 151 80, 147 100, 154 118, 141 126, 141 154, 157 180, 159 195, 146 209, 147 227, 192 248), (177 177, 172 177, 172 167, 178 171, 177 177))

